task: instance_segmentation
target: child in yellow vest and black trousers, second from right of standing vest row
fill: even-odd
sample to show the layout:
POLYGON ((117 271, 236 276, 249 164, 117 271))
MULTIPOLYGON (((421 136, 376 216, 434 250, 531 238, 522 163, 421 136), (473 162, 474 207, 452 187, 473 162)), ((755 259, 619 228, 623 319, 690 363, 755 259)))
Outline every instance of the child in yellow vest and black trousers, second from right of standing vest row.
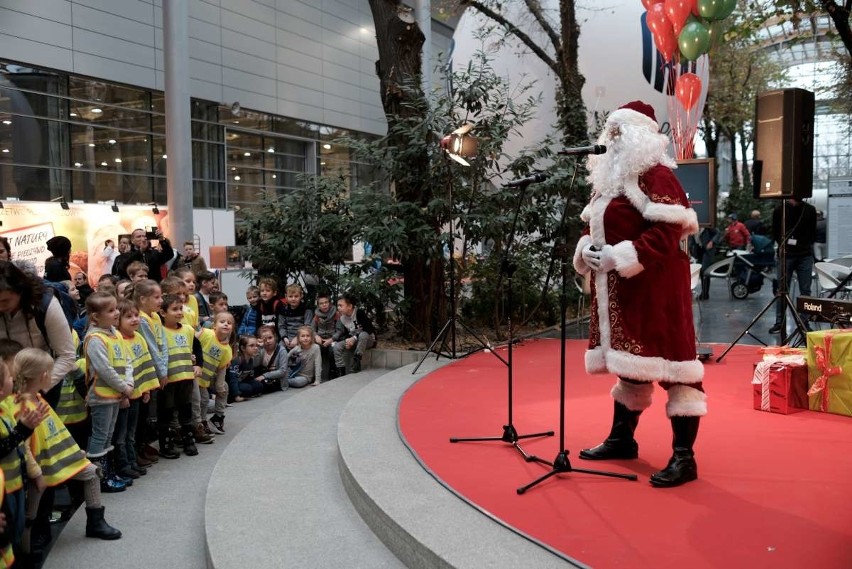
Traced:
POLYGON ((183 452, 187 456, 198 454, 195 446, 192 422, 192 392, 195 390, 195 378, 201 374, 192 359, 192 344, 195 333, 192 326, 183 324, 183 303, 175 295, 163 296, 160 307, 163 319, 163 331, 166 336, 166 349, 169 356, 168 380, 157 400, 157 428, 160 435, 160 456, 179 458, 175 450, 173 435, 169 429, 175 410, 180 423, 183 452))

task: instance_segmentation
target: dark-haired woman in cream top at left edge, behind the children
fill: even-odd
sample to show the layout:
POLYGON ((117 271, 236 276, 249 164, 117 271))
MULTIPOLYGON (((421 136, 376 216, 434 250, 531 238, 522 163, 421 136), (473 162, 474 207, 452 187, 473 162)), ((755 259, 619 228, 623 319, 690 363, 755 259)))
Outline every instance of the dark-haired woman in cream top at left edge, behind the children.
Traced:
MULTIPOLYGON (((19 342, 25 348, 39 348, 53 354, 56 363, 51 373, 52 388, 76 368, 74 341, 65 313, 56 298, 44 311, 44 333, 37 314, 42 311, 44 285, 8 261, 0 261, 0 338, 19 342), (46 337, 45 337, 46 335, 46 337)), ((40 316, 39 316, 40 320, 40 316)), ((56 396, 59 390, 56 389, 56 396)), ((51 393, 52 394, 52 393, 51 393)), ((49 394, 46 399, 53 406, 49 394)))

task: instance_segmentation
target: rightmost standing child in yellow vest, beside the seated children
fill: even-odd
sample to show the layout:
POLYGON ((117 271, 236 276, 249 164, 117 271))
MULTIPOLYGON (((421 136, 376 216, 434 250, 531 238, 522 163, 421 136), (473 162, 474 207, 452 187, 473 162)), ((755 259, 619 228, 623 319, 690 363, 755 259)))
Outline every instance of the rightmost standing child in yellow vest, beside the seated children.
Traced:
POLYGON ((228 402, 228 366, 234 358, 231 340, 234 332, 234 316, 230 312, 219 312, 213 317, 213 328, 202 328, 196 334, 201 343, 201 377, 198 391, 201 397, 201 424, 207 427, 207 402, 210 399, 210 384, 216 391, 216 406, 213 410, 210 430, 217 435, 225 434, 225 405, 228 402))

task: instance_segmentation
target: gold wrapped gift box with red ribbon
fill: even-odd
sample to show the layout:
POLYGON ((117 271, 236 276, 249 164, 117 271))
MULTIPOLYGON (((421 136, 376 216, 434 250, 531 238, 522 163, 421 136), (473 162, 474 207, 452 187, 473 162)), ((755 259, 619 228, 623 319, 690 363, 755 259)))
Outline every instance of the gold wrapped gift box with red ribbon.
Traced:
POLYGON ((808 395, 812 411, 852 417, 852 331, 808 332, 808 395))

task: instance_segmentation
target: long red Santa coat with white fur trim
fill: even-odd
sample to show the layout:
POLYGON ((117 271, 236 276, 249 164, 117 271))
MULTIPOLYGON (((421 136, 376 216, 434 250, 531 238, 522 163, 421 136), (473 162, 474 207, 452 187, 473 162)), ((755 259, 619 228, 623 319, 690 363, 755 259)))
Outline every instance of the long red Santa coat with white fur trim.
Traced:
POLYGON ((595 194, 574 267, 591 268, 588 244, 613 246, 615 269, 593 272, 588 373, 643 381, 699 383, 689 258, 680 240, 698 231, 695 211, 674 173, 656 165, 614 192, 595 194))

